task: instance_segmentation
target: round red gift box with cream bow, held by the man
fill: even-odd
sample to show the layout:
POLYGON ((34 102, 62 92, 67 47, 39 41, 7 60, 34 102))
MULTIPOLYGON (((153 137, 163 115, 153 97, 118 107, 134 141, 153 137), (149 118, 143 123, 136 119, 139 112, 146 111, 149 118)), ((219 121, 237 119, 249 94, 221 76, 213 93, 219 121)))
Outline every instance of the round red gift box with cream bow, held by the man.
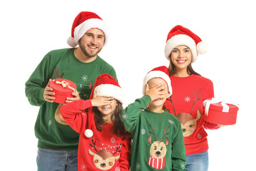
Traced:
POLYGON ((76 90, 75 83, 63 78, 57 78, 50 81, 50 88, 53 88, 53 92, 55 93, 55 95, 53 95, 55 100, 53 101, 62 104, 65 103, 67 98, 73 98, 74 96, 72 93, 76 90))

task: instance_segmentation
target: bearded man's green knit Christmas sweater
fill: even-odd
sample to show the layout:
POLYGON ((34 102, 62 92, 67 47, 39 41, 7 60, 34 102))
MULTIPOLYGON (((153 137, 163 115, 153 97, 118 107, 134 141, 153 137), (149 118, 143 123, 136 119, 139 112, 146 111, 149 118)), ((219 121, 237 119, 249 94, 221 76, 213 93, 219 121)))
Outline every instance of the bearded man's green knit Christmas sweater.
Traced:
POLYGON ((91 63, 82 63, 75 58, 74 49, 50 51, 26 81, 26 97, 29 103, 40 106, 35 125, 38 147, 55 150, 78 148, 79 134, 70 126, 61 125, 55 120, 54 114, 58 103, 48 103, 43 99, 43 90, 50 78, 73 81, 80 98, 84 100, 89 99, 97 76, 108 73, 117 78, 114 68, 100 56, 91 63))

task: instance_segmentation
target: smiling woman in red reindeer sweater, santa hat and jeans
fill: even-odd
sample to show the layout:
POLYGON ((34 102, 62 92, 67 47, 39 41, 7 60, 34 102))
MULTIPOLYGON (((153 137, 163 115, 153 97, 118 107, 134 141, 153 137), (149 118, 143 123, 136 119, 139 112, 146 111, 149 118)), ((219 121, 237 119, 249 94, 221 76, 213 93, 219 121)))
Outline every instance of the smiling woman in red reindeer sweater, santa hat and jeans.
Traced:
POLYGON ((186 147, 186 170, 208 170, 206 129, 219 125, 203 120, 203 100, 213 98, 213 83, 193 71, 191 63, 198 53, 206 53, 201 38, 188 28, 175 26, 167 36, 165 56, 169 59, 169 74, 173 95, 166 100, 166 110, 181 121, 186 147))

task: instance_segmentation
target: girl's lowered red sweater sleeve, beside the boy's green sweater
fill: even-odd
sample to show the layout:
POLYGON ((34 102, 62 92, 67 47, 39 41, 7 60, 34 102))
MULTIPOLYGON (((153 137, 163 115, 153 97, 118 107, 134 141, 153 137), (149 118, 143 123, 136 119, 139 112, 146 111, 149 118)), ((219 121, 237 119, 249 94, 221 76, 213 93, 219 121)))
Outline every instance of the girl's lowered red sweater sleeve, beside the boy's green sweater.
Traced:
POLYGON ((122 138, 122 152, 119 158, 119 165, 122 171, 129 171, 131 144, 132 139, 130 134, 128 133, 127 138, 122 138))

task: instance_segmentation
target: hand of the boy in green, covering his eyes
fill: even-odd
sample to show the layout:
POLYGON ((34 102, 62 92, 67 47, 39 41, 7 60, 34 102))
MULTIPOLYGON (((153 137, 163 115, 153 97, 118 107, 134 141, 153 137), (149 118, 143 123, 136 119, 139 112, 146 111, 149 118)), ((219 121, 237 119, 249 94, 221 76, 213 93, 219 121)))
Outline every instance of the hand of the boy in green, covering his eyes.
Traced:
POLYGON ((149 84, 146 84, 145 94, 149 95, 152 101, 156 100, 156 98, 167 98, 169 95, 167 86, 163 84, 156 85, 152 88, 149 88, 149 84))

